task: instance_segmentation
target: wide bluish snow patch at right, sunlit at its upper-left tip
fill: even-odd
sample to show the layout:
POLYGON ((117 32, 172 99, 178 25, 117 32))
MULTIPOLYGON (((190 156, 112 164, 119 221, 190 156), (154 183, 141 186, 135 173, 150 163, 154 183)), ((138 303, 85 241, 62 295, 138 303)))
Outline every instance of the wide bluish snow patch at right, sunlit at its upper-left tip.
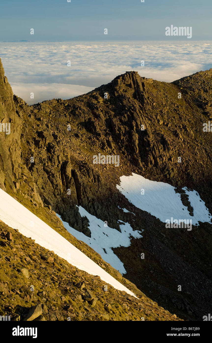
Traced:
POLYGON ((194 209, 194 216, 190 216, 186 206, 182 204, 179 193, 175 193, 175 188, 165 182, 157 182, 145 179, 143 176, 134 174, 121 176, 120 185, 116 188, 137 208, 146 211, 161 222, 167 219, 189 219, 193 225, 198 222, 208 222, 211 224, 211 214, 201 200, 198 192, 189 191, 183 188, 188 195, 188 200, 194 209), (141 194, 144 189, 144 194, 141 194))

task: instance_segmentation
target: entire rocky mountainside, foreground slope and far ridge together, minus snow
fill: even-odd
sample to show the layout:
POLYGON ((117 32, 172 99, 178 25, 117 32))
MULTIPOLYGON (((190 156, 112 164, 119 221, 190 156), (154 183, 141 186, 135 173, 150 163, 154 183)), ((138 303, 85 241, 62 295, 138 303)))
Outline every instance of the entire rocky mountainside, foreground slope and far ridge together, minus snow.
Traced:
POLYGON ((195 190, 212 213, 211 94, 212 69, 172 83, 126 71, 87 94, 29 106, 13 95, 0 62, 0 188, 137 295, 115 288, 105 292, 99 277, 2 221, 0 315, 202 320, 210 313, 211 223, 200 220, 190 231, 167 229, 116 185, 132 173, 164 182, 174 187, 190 217, 195 208, 186 189, 195 190), (142 233, 131 235, 128 246, 112 248, 124 276, 56 216, 86 241, 92 238, 92 223, 81 208, 106 223, 105 230, 121 233, 128 223, 142 233))

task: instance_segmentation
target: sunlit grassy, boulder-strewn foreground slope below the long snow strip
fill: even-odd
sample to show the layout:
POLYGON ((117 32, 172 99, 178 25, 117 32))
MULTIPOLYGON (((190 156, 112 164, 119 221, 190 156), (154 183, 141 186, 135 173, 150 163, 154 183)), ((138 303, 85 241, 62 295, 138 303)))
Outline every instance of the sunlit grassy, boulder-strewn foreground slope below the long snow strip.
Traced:
MULTIPOLYGON (((104 291, 99 276, 78 270, 0 222, 0 316, 11 320, 180 320, 140 293, 104 291)), ((136 287, 134 287, 136 289, 136 287)))

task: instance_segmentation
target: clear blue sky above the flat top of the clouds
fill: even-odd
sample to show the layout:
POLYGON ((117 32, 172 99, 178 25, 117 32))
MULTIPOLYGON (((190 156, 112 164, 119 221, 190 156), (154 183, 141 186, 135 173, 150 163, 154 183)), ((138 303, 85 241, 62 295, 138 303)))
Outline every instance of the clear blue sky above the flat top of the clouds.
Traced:
POLYGON ((165 36, 171 25, 212 37, 211 0, 1 0, 0 9, 0 41, 187 40, 165 36))

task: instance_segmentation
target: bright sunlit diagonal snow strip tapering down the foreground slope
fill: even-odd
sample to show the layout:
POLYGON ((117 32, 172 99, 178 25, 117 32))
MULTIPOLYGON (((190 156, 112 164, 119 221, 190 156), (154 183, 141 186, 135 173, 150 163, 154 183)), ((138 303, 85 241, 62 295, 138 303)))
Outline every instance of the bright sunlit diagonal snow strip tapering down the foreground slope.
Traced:
POLYGON ((74 247, 67 239, 58 234, 2 189, 0 189, 0 220, 12 228, 18 229, 24 236, 31 237, 40 246, 54 251, 55 254, 76 268, 84 270, 91 275, 99 275, 104 282, 119 291, 125 291, 136 297, 128 288, 105 272, 82 251, 74 247))

